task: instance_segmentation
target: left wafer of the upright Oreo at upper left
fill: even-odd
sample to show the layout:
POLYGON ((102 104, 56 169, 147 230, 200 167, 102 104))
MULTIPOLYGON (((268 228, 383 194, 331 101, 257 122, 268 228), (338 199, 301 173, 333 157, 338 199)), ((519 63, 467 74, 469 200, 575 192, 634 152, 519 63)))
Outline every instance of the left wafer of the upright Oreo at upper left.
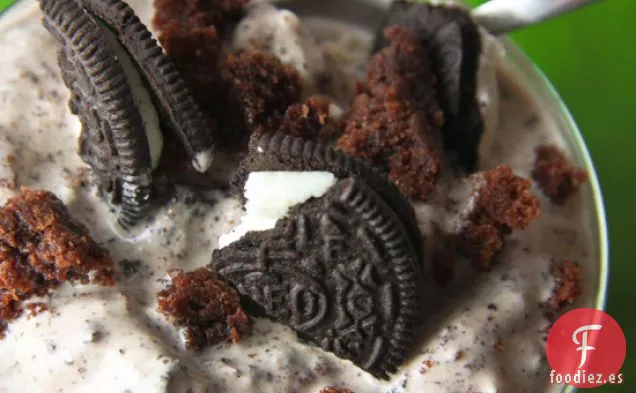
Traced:
POLYGON ((126 74, 106 37, 73 0, 42 0, 44 26, 60 45, 58 59, 71 90, 70 110, 82 123, 79 152, 111 203, 122 203, 119 222, 145 213, 152 167, 144 123, 126 74))

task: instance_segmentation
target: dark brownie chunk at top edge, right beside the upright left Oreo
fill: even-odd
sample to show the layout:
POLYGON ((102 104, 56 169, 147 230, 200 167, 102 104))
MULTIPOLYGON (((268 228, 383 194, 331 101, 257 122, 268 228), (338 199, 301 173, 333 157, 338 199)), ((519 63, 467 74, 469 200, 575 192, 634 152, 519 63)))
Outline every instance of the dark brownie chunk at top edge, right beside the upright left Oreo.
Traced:
MULTIPOLYGON (((244 15, 248 0, 154 0, 153 26, 166 55, 181 73, 207 117, 219 130, 224 91, 219 66, 223 40, 244 15)), ((220 142, 227 138, 218 135, 220 142)), ((231 141, 230 141, 231 142, 231 141)), ((224 146, 220 146, 224 147, 224 146)))

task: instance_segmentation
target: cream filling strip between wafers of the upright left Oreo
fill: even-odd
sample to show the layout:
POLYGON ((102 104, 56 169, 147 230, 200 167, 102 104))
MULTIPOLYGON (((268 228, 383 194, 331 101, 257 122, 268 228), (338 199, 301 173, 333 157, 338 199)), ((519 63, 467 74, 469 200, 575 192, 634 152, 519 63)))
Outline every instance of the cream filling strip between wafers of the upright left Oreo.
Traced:
POLYGON ((133 64, 133 60, 130 58, 128 51, 119 43, 117 36, 109 30, 108 26, 101 21, 98 23, 102 27, 106 39, 115 52, 117 60, 124 70, 124 74, 126 74, 126 80, 128 86, 130 86, 133 101, 139 109, 141 121, 144 124, 144 131, 148 139, 148 147, 150 148, 151 166, 152 169, 155 169, 157 165, 159 165, 161 151, 163 150, 163 135, 161 134, 159 114, 152 102, 150 92, 148 88, 146 88, 143 78, 137 70, 137 66, 133 64))

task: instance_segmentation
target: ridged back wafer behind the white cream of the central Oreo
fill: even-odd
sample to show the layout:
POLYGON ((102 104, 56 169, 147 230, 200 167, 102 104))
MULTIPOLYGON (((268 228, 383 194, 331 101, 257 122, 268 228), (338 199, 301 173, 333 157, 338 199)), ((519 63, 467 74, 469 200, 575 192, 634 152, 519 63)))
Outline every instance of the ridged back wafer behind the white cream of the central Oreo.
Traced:
POLYGON ((416 255, 422 255, 422 237, 411 203, 384 174, 366 162, 310 140, 267 133, 250 139, 249 153, 231 181, 234 191, 242 196, 249 173, 257 171, 325 171, 339 179, 363 180, 399 217, 416 255))

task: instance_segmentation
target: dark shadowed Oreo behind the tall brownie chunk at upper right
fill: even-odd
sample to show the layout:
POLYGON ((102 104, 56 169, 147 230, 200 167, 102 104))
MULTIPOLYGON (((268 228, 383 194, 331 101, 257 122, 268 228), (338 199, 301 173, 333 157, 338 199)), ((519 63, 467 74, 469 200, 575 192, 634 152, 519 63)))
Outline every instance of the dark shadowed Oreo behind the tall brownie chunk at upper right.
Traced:
POLYGON ((374 52, 387 45, 384 29, 395 25, 408 29, 428 50, 444 111, 444 145, 464 169, 473 171, 484 129, 476 97, 482 49, 478 25, 458 6, 397 0, 378 29, 374 52))

